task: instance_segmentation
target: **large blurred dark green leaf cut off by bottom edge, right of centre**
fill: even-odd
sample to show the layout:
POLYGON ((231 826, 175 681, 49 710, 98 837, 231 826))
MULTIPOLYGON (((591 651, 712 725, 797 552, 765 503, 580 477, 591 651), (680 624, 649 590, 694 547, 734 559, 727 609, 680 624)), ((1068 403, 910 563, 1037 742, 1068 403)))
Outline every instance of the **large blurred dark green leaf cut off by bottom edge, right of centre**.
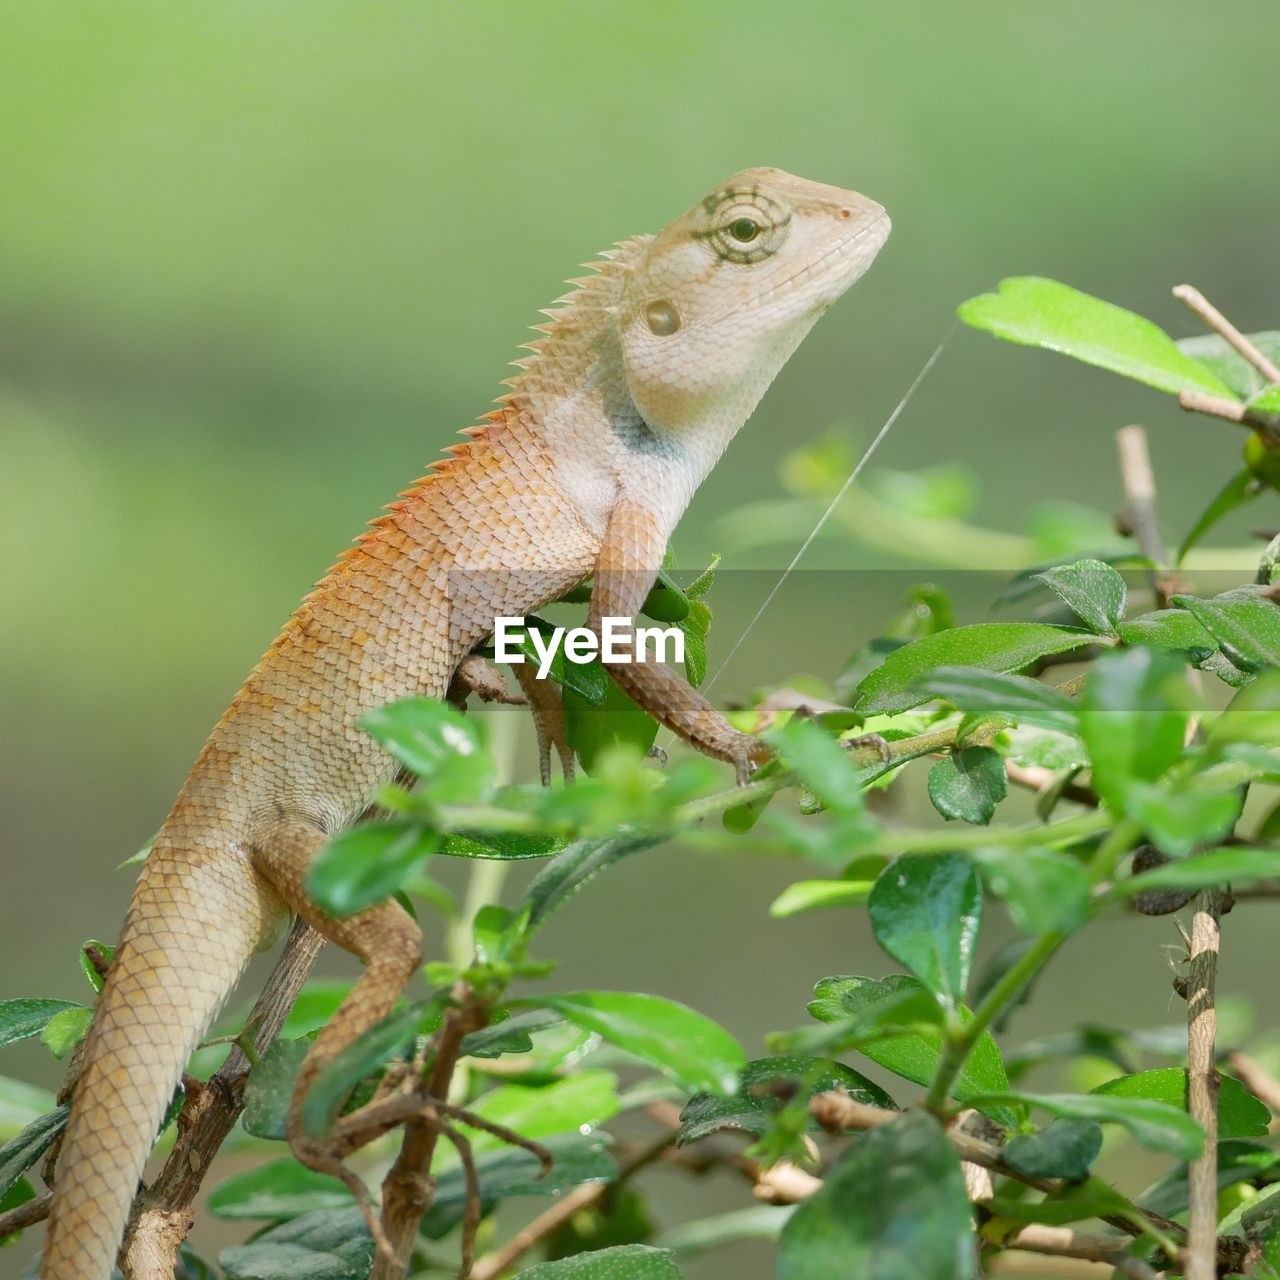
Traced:
POLYGON ((782 1229, 778 1280, 972 1280, 969 1197, 941 1125, 909 1111, 859 1138, 782 1229))

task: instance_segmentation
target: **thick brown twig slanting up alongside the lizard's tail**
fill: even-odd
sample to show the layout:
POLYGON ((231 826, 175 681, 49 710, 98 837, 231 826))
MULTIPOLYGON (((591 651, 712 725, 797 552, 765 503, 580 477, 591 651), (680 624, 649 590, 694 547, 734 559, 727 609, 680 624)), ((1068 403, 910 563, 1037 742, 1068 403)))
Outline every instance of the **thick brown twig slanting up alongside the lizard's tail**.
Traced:
MULTIPOLYGON (((256 1052, 265 1052, 279 1034, 323 946, 315 929, 301 920, 293 925, 248 1018, 256 1052)), ((138 1197, 124 1235, 120 1257, 127 1280, 173 1275, 200 1185, 243 1107, 248 1073, 248 1056, 237 1044, 209 1083, 188 1094, 178 1140, 156 1180, 138 1197)))

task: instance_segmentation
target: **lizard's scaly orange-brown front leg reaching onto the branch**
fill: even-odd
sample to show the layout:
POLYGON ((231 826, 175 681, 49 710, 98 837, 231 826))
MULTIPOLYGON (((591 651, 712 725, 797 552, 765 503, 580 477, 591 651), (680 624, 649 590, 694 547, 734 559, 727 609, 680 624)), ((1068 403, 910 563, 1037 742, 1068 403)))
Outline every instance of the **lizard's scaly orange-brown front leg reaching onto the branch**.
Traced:
MULTIPOLYGON (((623 498, 613 508, 595 564, 588 626, 600 636, 603 618, 634 618, 658 576, 666 550, 659 520, 641 503, 623 498)), ((603 645, 602 645, 603 655, 603 645)), ((618 687, 655 721, 707 755, 727 760, 737 781, 769 758, 769 749, 733 728, 682 676, 659 663, 635 660, 604 666, 618 687)), ((602 658, 603 660, 603 658, 602 658)))

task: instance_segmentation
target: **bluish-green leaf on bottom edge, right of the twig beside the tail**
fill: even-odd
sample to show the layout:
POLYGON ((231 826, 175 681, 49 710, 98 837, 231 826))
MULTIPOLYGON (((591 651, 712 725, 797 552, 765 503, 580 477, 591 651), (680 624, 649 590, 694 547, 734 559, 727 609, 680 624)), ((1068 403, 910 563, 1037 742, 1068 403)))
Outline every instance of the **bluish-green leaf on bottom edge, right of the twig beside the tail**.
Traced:
POLYGON ((223 1249, 227 1280, 367 1280, 374 1242, 358 1208, 303 1213, 223 1249))

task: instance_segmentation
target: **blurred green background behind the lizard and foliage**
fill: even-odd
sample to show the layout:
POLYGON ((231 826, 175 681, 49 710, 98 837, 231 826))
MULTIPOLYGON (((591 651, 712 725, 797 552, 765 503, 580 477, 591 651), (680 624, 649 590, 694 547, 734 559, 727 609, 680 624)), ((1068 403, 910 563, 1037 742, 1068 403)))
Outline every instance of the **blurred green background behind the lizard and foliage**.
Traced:
MULTIPOLYGON (((1277 36, 1275 0, 0 4, 0 996, 84 996, 74 948, 118 929, 115 864, 294 602, 488 407, 576 264, 745 165, 892 214, 879 262, 699 493, 677 539, 695 566, 717 516, 778 494, 790 448, 867 439, 955 305, 1002 275, 1179 335, 1185 279, 1244 329, 1280 325, 1277 36)), ((878 462, 968 466, 982 520, 1016 527, 1046 498, 1114 509, 1112 431, 1140 420, 1181 531, 1238 442, 1157 399, 956 332, 878 462)), ((732 563, 781 567, 794 545, 732 563)), ((845 543, 812 563, 873 559, 845 543)), ((771 580, 726 590, 713 668, 771 580)), ((861 635, 878 618, 855 581, 840 620, 861 635)), ((796 628, 832 608, 820 576, 799 580, 717 694, 831 675, 852 640, 796 628)), ((557 980, 684 998, 758 1048, 814 978, 890 968, 854 915, 769 922, 795 877, 637 859, 548 932, 557 980)), ((1222 983, 1265 1004, 1271 951, 1239 914, 1222 983)), ((1069 951, 1020 1034, 1178 1016, 1167 922, 1091 937, 1114 950, 1069 951)), ((59 1074, 31 1047, 0 1066, 59 1074)), ((705 1197, 741 1203, 731 1184, 705 1197)))

